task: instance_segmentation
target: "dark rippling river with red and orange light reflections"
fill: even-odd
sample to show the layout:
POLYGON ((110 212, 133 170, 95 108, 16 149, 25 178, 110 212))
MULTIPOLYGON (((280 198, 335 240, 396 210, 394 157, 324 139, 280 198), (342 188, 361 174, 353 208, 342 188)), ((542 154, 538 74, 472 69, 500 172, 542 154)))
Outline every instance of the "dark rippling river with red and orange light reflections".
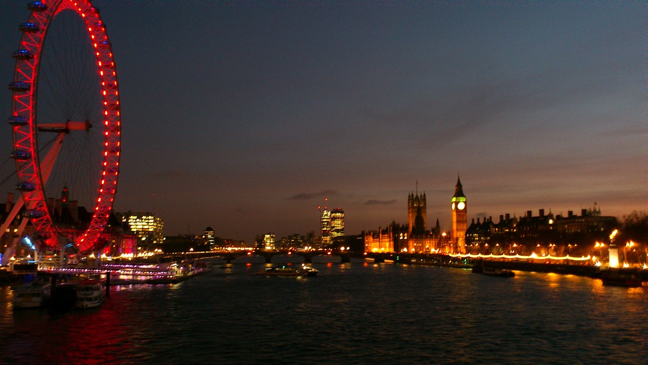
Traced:
POLYGON ((91 310, 12 309, 0 364, 647 364, 648 288, 516 271, 233 264, 179 284, 111 288, 91 310))

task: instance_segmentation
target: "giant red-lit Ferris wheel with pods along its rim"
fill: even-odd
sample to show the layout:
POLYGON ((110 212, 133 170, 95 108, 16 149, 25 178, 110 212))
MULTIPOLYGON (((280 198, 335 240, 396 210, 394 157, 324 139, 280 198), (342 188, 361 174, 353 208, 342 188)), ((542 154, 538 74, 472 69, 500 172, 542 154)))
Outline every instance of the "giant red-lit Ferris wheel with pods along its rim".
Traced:
POLYGON ((87 0, 32 1, 28 8, 9 86, 21 192, 16 205, 25 205, 38 242, 57 247, 66 237, 89 251, 108 223, 119 175, 119 90, 110 41, 87 0), (78 203, 88 208, 89 224, 76 229, 60 224, 52 203, 68 184, 72 192, 87 192, 78 203))

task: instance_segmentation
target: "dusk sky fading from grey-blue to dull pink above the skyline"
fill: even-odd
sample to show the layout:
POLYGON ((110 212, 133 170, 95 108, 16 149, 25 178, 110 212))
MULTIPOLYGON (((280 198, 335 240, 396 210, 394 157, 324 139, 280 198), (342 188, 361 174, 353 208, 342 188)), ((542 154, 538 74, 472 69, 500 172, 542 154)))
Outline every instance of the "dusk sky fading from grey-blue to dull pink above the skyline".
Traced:
MULTIPOLYGON (((5 84, 26 3, 0 5, 5 84)), ((469 221, 648 210, 643 2, 94 3, 120 82, 115 210, 166 235, 306 234, 319 205, 359 234, 406 223, 417 183, 449 230, 457 173, 469 221)))

